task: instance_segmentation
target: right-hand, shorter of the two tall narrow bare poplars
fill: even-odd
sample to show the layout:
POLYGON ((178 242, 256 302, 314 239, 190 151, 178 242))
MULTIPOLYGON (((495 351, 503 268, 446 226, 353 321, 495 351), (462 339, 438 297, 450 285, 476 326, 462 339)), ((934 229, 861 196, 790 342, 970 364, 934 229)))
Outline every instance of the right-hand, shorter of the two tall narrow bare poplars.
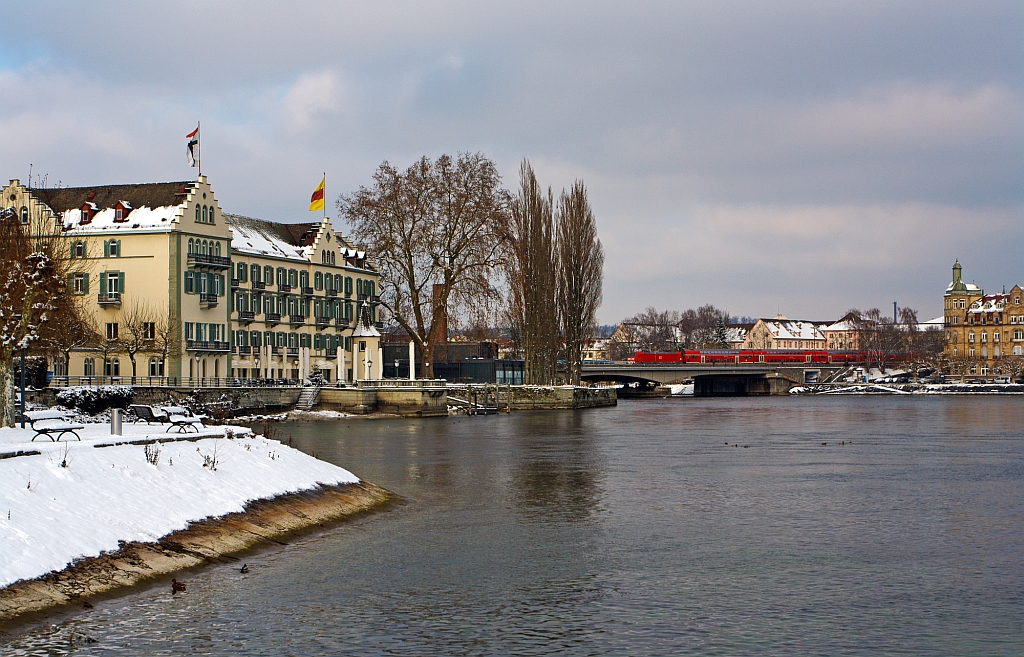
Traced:
POLYGON ((558 201, 557 302, 565 344, 565 378, 580 385, 583 348, 597 323, 604 279, 604 251, 597 238, 597 223, 587 200, 587 188, 578 180, 558 201))

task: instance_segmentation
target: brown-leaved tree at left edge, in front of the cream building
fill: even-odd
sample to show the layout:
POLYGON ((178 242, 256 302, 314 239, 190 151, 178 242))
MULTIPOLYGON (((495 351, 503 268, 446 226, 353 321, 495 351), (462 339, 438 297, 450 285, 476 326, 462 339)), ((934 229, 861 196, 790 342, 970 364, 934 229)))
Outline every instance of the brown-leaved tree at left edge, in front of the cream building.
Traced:
POLYGON ((51 219, 23 224, 13 209, 0 214, 0 426, 14 424, 15 352, 43 350, 50 330, 76 313, 69 242, 51 219))

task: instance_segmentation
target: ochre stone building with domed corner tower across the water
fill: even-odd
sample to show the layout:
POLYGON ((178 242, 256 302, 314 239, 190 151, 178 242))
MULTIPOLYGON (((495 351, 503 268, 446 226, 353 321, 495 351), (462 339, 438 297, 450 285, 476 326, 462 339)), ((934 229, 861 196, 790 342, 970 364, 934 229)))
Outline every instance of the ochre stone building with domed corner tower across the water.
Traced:
POLYGON ((1017 373, 1024 357, 1024 291, 986 295, 964 282, 957 260, 952 281, 943 295, 944 355, 954 374, 987 376, 1017 373), (1009 360, 1008 360, 1009 359, 1009 360))

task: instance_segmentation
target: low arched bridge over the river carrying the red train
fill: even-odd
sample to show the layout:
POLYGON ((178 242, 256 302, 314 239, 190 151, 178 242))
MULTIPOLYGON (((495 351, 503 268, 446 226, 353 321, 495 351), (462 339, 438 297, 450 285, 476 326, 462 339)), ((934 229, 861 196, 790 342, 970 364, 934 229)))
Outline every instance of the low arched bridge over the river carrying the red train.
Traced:
POLYGON ((794 386, 828 381, 847 369, 831 363, 684 363, 651 362, 584 364, 581 379, 590 382, 638 384, 641 387, 693 380, 693 394, 702 397, 782 395, 794 386))

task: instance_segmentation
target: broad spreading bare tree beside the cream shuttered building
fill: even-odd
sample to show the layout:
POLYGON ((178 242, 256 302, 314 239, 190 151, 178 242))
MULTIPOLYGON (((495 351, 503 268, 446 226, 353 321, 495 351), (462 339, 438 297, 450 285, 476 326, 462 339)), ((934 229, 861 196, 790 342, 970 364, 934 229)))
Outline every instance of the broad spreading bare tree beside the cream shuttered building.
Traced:
MULTIPOLYGON (((494 303, 507 193, 482 154, 422 158, 406 171, 385 162, 371 187, 338 199, 352 237, 380 271, 381 302, 424 354, 444 340, 453 308, 494 303), (434 286, 436 288, 436 294, 434 286)), ((422 376, 431 376, 431 358, 422 376)))

